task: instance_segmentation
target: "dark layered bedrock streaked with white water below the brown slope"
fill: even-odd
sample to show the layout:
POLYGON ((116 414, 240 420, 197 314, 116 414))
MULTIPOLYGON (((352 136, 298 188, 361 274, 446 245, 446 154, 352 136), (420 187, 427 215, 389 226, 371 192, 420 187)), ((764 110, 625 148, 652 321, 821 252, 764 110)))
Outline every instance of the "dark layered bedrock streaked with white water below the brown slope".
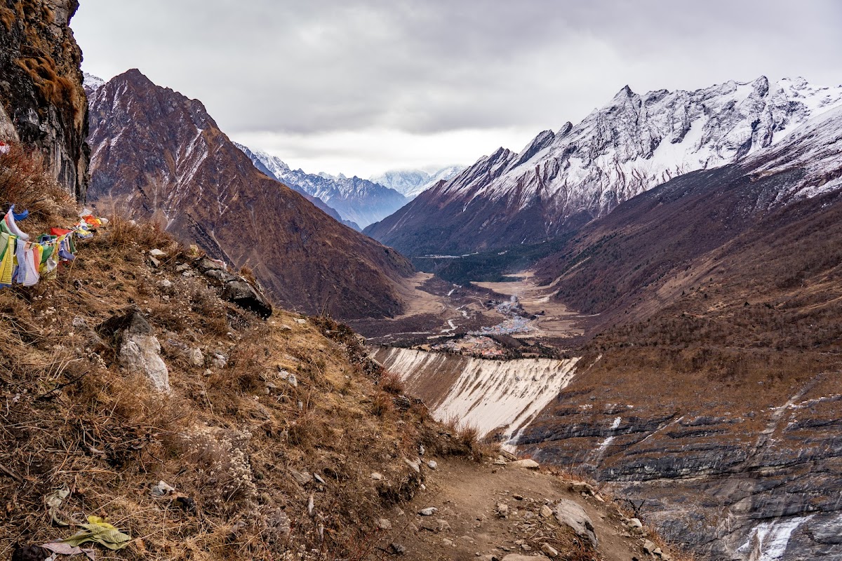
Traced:
POLYGON ((712 388, 694 404, 575 385, 526 427, 520 451, 608 484, 702 558, 842 559, 842 396, 825 393, 832 380, 776 405, 759 392, 742 409, 712 388))

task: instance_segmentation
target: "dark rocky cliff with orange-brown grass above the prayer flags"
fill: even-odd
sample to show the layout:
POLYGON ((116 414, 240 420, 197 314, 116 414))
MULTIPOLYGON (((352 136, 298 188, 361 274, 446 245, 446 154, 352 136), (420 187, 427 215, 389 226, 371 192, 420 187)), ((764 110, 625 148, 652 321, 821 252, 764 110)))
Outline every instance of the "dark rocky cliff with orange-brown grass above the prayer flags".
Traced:
POLYGON ((69 27, 77 0, 0 5, 0 135, 35 146, 78 200, 88 188, 82 51, 69 27))

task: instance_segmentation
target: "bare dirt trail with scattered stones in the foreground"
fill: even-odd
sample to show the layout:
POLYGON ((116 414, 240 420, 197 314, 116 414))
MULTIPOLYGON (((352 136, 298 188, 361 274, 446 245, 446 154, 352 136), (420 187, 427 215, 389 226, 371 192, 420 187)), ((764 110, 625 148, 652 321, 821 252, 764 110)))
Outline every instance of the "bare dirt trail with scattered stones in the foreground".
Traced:
POLYGON ((541 557, 545 543, 560 552, 557 559, 647 558, 642 552, 644 538, 632 536, 616 506, 590 495, 580 482, 511 465, 452 459, 439 461, 436 469, 427 469, 425 474, 426 490, 392 512, 392 528, 380 536, 370 558, 390 558, 391 543, 406 548, 401 558, 419 561, 503 559, 512 553, 537 555, 538 561, 546 558, 541 557), (577 502, 592 521, 599 539, 595 557, 572 555, 579 549, 575 542, 583 542, 582 538, 559 525, 554 516, 541 515, 544 505, 552 508, 562 499, 577 502), (507 516, 500 516, 498 505, 508 508, 507 516), (428 507, 438 511, 432 516, 418 515, 428 507))

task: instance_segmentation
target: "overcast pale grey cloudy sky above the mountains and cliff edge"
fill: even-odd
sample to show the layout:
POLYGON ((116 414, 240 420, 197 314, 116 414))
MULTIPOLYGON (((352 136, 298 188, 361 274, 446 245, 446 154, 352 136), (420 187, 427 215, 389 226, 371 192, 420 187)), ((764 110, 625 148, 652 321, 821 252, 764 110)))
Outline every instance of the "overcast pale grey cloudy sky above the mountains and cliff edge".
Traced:
POLYGON ((83 70, 139 68, 306 172, 520 151, 614 97, 842 83, 839 0, 81 0, 83 70))

